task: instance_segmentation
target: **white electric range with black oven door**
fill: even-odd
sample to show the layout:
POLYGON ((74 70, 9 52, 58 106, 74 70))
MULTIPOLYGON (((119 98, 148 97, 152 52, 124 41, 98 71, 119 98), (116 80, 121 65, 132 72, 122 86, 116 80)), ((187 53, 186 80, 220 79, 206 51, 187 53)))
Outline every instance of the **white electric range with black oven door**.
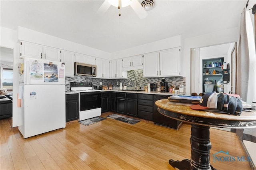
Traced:
POLYGON ((94 90, 92 83, 70 83, 71 91, 79 92, 79 119, 82 121, 101 115, 101 90, 94 90))

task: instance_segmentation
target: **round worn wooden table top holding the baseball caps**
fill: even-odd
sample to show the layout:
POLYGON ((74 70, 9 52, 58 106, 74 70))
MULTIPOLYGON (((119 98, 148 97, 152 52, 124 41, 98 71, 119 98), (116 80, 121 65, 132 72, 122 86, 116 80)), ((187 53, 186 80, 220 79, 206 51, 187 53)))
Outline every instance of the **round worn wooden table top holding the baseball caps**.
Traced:
MULTIPOLYGON (((229 125, 224 125, 225 123, 231 123, 236 125, 234 125, 235 127, 256 127, 256 112, 246 112, 246 111, 242 111, 242 114, 240 116, 237 115, 230 115, 230 114, 225 114, 225 113, 213 113, 213 112, 208 112, 208 111, 198 111, 198 110, 193 110, 190 108, 190 106, 186 106, 186 105, 176 105, 174 103, 170 103, 168 101, 168 99, 162 99, 162 100, 158 100, 156 101, 156 106, 158 106, 158 108, 162 111, 160 111, 161 114, 167 116, 167 117, 171 117, 174 119, 178 119, 181 121, 186 121, 186 122, 194 122, 196 124, 204 124, 205 123, 200 123, 199 119, 202 118, 204 121, 207 120, 207 122, 213 122, 210 121, 210 119, 215 119, 215 121, 218 120, 218 122, 220 123, 220 121, 223 122, 223 125, 221 125, 222 127, 229 127, 229 125), (165 112, 167 111, 167 112, 165 112), (186 116, 185 118, 182 118, 180 115, 179 117, 174 116, 173 114, 170 113, 177 113, 180 115, 184 115, 186 116), (190 120, 191 118, 195 118, 198 117, 196 121, 190 120), (217 120, 216 120, 217 119, 217 120), (247 123, 246 123, 247 122, 247 123), (250 122, 250 124, 248 124, 248 122, 250 122)), ((214 125, 214 124, 213 124, 214 125)), ((220 124, 218 124, 220 125, 220 124)), ((210 125, 209 125, 210 126, 210 125)), ((220 127, 220 126, 218 126, 220 127)))

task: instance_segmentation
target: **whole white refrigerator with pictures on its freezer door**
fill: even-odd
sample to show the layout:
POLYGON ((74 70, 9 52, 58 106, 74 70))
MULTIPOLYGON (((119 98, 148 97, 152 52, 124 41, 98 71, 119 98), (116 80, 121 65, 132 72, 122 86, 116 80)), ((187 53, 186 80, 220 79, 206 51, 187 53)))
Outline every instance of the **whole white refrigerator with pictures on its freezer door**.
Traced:
POLYGON ((66 127, 65 64, 27 57, 19 72, 23 137, 66 127))

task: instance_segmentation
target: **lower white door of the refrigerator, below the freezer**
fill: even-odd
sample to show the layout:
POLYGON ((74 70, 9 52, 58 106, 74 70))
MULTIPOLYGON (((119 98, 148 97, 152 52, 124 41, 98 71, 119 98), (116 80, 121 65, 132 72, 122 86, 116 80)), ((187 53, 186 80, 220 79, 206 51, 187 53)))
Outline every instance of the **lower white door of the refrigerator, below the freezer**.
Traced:
POLYGON ((65 126, 65 85, 25 85, 24 138, 65 126))

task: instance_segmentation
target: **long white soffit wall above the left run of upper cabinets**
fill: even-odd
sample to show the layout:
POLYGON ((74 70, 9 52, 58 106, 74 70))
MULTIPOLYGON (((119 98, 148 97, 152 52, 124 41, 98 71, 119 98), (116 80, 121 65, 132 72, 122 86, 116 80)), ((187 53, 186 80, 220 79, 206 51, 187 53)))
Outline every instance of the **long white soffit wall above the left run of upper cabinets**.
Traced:
POLYGON ((108 52, 78 43, 70 42, 41 32, 36 32, 34 30, 23 27, 18 27, 18 40, 37 43, 40 45, 63 49, 66 51, 72 51, 75 53, 82 53, 103 59, 110 59, 110 53, 108 52))

